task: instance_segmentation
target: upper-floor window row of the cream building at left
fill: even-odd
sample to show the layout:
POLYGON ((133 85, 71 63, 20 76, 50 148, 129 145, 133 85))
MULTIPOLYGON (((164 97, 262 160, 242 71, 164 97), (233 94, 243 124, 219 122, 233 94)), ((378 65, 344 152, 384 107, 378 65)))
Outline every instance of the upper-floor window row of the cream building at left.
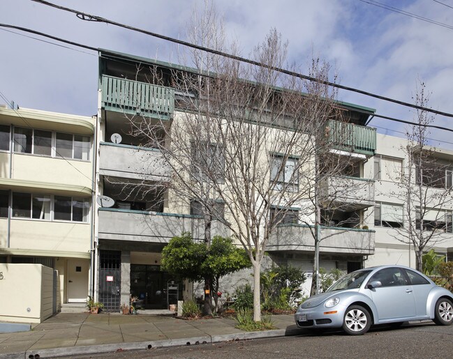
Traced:
MULTIPOLYGON (((2 138, 1 133, 0 139, 2 138)), ((6 135, 3 134, 3 137, 6 137, 6 135)), ((17 153, 89 160, 91 148, 91 137, 89 136, 16 127, 14 128, 13 139, 14 151, 17 153)), ((0 145, 0 149, 4 149, 3 147, 0 145)))

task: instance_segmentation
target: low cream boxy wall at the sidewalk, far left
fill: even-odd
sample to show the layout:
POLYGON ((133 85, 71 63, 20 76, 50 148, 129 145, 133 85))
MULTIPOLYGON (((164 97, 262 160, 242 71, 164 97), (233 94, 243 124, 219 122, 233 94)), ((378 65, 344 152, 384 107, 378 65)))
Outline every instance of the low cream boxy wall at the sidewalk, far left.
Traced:
POLYGON ((59 307, 57 275, 41 264, 0 263, 0 320, 40 323, 59 307))

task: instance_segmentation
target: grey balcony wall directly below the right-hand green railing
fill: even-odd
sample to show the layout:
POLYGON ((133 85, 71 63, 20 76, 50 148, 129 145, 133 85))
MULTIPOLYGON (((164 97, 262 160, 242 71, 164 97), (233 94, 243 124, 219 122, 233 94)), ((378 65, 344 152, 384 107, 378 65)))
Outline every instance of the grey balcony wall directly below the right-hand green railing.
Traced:
POLYGON ((374 181, 356 177, 330 177, 323 180, 320 197, 328 206, 343 211, 374 206, 374 181))

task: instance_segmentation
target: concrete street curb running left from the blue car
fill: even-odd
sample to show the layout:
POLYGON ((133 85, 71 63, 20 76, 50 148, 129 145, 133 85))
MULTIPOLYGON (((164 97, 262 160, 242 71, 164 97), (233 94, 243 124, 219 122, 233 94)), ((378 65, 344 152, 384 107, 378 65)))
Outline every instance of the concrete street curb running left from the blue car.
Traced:
POLYGON ((299 330, 276 329, 262 332, 244 332, 235 334, 211 335, 205 337, 191 337, 180 339, 163 339, 149 342, 132 342, 121 344, 101 344, 90 346, 70 346, 66 348, 38 349, 36 351, 25 351, 22 353, 11 353, 0 358, 54 358, 59 356, 77 356, 95 353, 112 353, 116 351, 149 350, 154 348, 165 348, 171 346, 189 346, 199 344, 213 344, 218 342, 230 342, 247 339, 262 339, 270 337, 285 337, 300 334, 299 330))

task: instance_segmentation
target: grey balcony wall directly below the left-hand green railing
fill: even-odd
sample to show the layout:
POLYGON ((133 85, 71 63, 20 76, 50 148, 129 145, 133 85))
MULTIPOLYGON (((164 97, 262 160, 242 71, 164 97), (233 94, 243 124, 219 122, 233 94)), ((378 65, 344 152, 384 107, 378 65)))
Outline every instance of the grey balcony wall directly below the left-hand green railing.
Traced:
POLYGON ((99 173, 103 176, 167 181, 170 166, 154 148, 101 142, 99 173))

